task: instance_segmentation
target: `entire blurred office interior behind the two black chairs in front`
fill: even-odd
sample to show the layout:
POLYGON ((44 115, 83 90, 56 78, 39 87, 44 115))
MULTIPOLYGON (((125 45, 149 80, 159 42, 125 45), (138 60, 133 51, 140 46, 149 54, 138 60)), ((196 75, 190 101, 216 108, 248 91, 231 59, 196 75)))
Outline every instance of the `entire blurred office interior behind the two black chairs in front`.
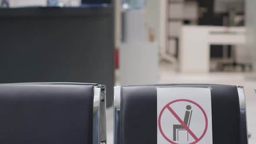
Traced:
POLYGON ((255 6, 255 0, 0 0, 0 83, 106 85, 108 142, 114 85, 243 85, 254 135, 255 6))

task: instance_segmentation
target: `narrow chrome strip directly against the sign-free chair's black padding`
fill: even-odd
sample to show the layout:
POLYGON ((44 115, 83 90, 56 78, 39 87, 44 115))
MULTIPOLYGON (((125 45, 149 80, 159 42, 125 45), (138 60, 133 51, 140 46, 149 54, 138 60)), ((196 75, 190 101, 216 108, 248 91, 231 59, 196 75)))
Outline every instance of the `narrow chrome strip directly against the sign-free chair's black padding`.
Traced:
POLYGON ((93 129, 92 129, 92 144, 100 144, 99 140, 99 106, 100 106, 101 88, 94 87, 93 89, 93 129))

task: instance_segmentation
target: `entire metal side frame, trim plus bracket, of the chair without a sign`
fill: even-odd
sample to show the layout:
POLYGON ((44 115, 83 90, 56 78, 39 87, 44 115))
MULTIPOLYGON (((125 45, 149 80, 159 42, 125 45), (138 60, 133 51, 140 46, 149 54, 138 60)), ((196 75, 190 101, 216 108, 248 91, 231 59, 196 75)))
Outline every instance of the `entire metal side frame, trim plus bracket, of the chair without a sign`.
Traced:
POLYGON ((93 141, 92 144, 107 143, 106 129, 106 89, 105 85, 95 85, 93 90, 93 141))

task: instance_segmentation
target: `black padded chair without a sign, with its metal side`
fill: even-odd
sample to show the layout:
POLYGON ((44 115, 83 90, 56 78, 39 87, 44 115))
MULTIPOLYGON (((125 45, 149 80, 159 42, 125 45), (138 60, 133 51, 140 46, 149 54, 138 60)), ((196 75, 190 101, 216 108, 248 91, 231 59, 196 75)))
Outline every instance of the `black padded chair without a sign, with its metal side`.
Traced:
POLYGON ((106 143, 105 86, 0 84, 1 144, 106 143))

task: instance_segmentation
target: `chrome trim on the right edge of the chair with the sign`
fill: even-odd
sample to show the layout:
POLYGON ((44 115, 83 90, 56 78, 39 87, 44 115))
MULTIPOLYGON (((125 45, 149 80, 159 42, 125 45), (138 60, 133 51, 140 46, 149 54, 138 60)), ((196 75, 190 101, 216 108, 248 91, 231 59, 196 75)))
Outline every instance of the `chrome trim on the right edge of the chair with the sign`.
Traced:
POLYGON ((237 85, 237 92, 240 104, 240 129, 241 129, 241 141, 242 144, 248 144, 248 131, 246 120, 246 101, 243 86, 237 85))

